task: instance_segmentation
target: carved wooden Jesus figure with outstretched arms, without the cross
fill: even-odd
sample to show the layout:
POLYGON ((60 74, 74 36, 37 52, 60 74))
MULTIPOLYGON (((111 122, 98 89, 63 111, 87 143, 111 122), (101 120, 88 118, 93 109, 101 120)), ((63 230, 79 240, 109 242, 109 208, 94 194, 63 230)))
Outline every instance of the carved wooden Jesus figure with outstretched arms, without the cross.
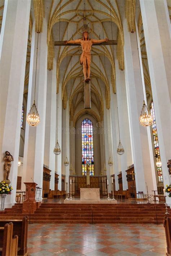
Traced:
POLYGON ((108 42, 109 39, 102 40, 89 39, 87 31, 83 32, 83 38, 78 40, 65 41, 66 44, 80 44, 82 46, 82 55, 80 57, 80 64, 83 65, 83 73, 85 82, 90 81, 90 63, 91 63, 91 46, 92 44, 108 42))

